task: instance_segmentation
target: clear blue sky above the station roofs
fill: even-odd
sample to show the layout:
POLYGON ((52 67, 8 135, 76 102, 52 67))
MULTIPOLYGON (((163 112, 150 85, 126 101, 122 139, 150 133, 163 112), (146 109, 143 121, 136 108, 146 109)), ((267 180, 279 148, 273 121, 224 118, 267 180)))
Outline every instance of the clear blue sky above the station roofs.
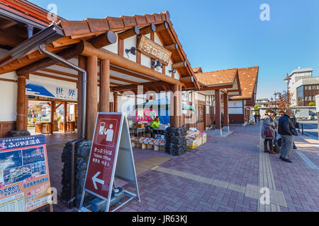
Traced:
POLYGON ((57 5, 67 20, 169 11, 192 67, 203 71, 260 66, 257 97, 286 90, 284 77, 298 66, 319 76, 317 0, 31 0, 57 5), (259 18, 269 4, 270 21, 259 18))

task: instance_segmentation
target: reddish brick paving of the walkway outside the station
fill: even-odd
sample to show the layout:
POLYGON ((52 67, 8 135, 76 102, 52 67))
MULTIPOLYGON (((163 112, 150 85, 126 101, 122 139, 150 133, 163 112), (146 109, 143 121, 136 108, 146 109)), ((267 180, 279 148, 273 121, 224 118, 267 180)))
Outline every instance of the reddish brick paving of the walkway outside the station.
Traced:
MULTIPOLYGON (((152 162, 154 157, 164 159, 164 163, 159 161, 158 167, 140 172, 141 203, 131 201, 118 211, 319 211, 318 169, 311 169, 296 152, 291 155, 292 164, 279 160, 279 155, 264 154, 258 124, 231 127, 231 131, 228 137, 208 136, 208 143, 180 157, 134 149, 137 168, 152 162), (272 194, 272 204, 264 208, 259 203, 261 186, 269 186, 272 194)), ((53 140, 55 144, 48 146, 50 177, 52 186, 56 185, 59 191, 63 145, 62 141, 59 145, 53 140)), ((316 142, 307 137, 296 138, 298 151, 319 167, 316 142)), ((135 192, 131 184, 124 188, 135 192)), ((55 211, 70 210, 59 200, 55 211)))

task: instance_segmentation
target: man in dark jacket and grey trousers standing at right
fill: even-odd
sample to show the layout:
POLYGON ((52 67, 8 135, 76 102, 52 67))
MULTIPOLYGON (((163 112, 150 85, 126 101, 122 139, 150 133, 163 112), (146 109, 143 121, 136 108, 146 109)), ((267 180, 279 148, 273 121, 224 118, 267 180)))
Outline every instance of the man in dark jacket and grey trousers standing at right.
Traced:
POLYGON ((287 109, 284 116, 279 119, 278 133, 281 135, 280 159, 285 162, 292 162, 289 157, 293 148, 293 124, 290 118, 293 116, 291 109, 287 109))

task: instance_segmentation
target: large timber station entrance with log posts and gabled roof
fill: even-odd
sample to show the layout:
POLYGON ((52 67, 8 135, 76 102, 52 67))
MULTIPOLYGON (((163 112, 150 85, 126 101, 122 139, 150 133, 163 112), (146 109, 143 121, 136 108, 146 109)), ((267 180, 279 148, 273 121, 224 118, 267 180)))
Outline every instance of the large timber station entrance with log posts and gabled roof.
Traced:
MULTIPOLYGON (((26 130, 26 86, 29 81, 35 85, 56 85, 57 91, 59 85, 77 90, 79 127, 84 82, 81 74, 50 59, 39 49, 28 52, 26 56, 12 54, 13 49, 49 25, 47 11, 28 1, 18 0, 7 1, 1 5, 1 9, 4 8, 6 10, 0 13, 0 32, 5 31, 0 38, 0 104, 6 109, 1 112, 0 136, 8 136, 11 130, 26 130), (31 28, 33 32, 30 32, 31 28)), ((81 21, 57 17, 56 26, 64 35, 46 44, 46 49, 87 73, 86 140, 92 139, 96 113, 117 112, 118 96, 127 91, 137 94, 139 85, 143 85, 142 93, 179 91, 179 94, 171 95, 171 110, 174 111, 171 126, 182 126, 181 91, 201 87, 170 21, 169 12, 81 21)), ((58 97, 44 100, 62 101, 58 97)))

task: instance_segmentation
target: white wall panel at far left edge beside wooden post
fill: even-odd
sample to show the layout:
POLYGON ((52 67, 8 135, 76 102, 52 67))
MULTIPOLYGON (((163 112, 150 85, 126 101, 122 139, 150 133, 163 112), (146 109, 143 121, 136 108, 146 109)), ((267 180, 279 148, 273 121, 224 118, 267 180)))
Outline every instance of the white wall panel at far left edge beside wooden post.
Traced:
MULTIPOLYGON (((16 72, 1 75, 1 78, 16 79, 16 72)), ((18 84, 0 81, 0 121, 16 121, 18 84)))

